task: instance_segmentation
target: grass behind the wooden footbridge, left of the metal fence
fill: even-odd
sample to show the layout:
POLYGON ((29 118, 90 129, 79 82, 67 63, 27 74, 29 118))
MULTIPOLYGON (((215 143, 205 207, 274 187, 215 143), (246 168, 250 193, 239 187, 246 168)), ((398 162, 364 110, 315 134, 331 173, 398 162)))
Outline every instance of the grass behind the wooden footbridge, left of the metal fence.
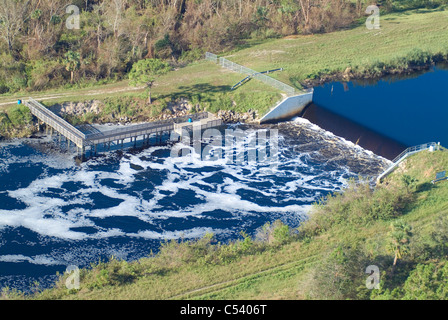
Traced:
MULTIPOLYGON (((199 61, 183 68, 176 68, 156 79, 151 88, 155 105, 185 98, 193 104, 200 104, 211 112, 234 110, 246 112, 257 110, 266 113, 284 94, 276 88, 257 80, 247 82, 232 91, 233 85, 246 76, 221 68, 208 61, 199 61)), ((80 89, 57 89, 45 92, 20 92, 0 96, 0 111, 8 111, 17 105, 18 99, 32 97, 45 105, 64 102, 104 101, 114 97, 136 97, 144 100, 148 95, 145 86, 131 87, 129 81, 92 86, 80 89)))

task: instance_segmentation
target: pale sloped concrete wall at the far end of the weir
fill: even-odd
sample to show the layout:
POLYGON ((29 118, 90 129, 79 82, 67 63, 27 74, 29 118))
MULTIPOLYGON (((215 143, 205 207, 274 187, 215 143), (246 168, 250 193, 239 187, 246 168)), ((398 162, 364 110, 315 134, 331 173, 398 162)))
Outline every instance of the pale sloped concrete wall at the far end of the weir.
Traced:
POLYGON ((272 123, 288 120, 299 115, 303 109, 313 102, 313 90, 308 93, 284 99, 260 120, 260 123, 272 123))

